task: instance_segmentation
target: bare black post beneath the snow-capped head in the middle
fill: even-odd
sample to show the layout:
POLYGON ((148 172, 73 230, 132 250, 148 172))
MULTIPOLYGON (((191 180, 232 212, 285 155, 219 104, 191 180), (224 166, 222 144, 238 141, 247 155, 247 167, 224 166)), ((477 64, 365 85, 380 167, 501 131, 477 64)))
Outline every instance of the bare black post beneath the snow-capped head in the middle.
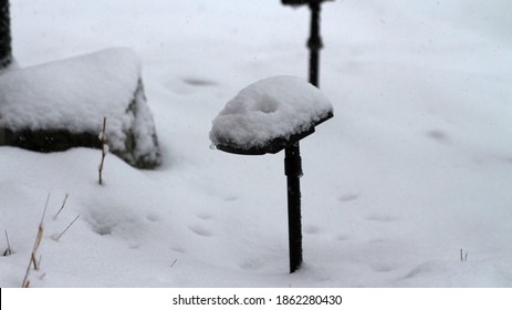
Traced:
POLYGON ((284 174, 288 183, 288 227, 290 273, 302 265, 301 183, 302 159, 299 142, 284 149, 284 174))

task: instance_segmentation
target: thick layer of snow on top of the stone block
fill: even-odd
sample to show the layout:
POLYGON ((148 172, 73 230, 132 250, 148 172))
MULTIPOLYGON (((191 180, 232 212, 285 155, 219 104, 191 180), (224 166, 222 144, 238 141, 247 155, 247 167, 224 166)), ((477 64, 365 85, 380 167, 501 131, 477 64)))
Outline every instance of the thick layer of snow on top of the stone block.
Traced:
POLYGON ((100 132, 106 116, 111 132, 119 132, 132 122, 119 115, 133 101, 138 76, 140 60, 128 49, 11 71, 0 76, 0 125, 100 132))

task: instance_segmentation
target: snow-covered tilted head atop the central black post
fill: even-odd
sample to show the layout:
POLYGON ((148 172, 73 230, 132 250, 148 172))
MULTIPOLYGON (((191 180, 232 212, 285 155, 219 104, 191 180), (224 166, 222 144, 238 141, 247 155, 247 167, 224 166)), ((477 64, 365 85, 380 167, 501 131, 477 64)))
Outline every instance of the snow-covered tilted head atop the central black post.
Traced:
POLYGON ((213 120, 212 144, 244 155, 275 154, 333 116, 328 99, 295 76, 274 76, 241 90, 213 120))

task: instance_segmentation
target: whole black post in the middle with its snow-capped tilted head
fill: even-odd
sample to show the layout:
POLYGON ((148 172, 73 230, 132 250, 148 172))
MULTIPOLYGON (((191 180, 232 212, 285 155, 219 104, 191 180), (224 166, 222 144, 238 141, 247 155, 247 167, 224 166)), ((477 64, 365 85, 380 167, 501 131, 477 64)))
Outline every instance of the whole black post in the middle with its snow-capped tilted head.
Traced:
POLYGON ((213 120, 210 132, 212 145, 228 153, 263 155, 285 149, 290 272, 302 264, 299 141, 331 117, 333 106, 317 87, 299 78, 274 76, 240 91, 213 120))

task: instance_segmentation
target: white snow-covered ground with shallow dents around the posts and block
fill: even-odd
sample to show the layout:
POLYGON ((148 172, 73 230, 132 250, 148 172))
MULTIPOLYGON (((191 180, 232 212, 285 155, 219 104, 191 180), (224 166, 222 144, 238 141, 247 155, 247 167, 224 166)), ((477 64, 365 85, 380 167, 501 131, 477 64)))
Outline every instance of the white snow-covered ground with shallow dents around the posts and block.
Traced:
POLYGON ((164 164, 109 155, 100 186, 100 151, 0 147, 13 251, 0 287, 21 286, 49 193, 32 287, 511 287, 511 13, 508 0, 323 4, 320 84, 335 116, 301 143, 304 266, 289 275, 283 154, 213 151, 209 131, 244 86, 306 76, 306 8, 11 1, 22 68, 140 55, 164 164))

